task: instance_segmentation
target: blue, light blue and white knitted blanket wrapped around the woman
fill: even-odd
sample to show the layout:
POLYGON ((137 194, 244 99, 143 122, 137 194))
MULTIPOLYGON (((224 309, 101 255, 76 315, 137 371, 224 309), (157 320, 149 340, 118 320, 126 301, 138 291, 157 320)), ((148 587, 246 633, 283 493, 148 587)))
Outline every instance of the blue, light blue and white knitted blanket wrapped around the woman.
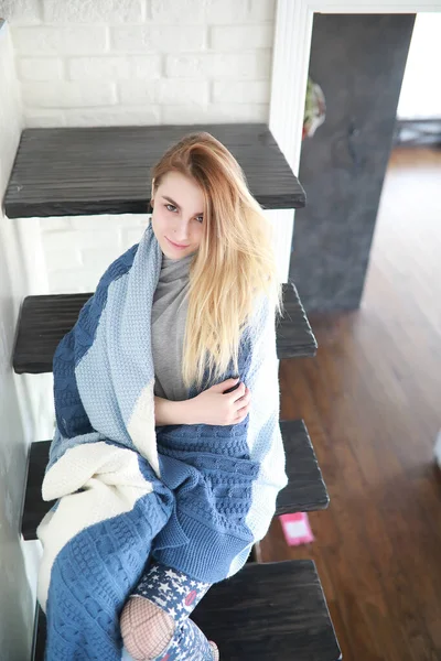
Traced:
MULTIPOLYGON (((266 296, 240 338, 239 376, 251 391, 244 422, 155 426, 150 324, 161 262, 149 224, 54 354, 56 425, 42 495, 55 503, 37 528, 45 661, 121 659, 119 616, 148 560, 207 583, 234 575, 288 481, 266 296)), ((189 399, 214 384, 207 375, 189 399)))

